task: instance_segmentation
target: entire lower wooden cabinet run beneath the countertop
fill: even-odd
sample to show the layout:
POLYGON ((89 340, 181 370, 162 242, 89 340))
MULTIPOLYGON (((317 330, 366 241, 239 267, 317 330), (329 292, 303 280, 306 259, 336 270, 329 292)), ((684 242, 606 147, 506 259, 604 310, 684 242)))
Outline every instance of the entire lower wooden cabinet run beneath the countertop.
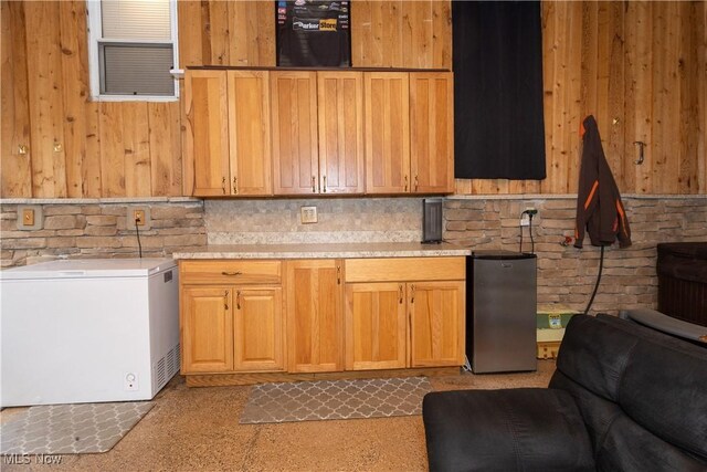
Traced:
POLYGON ((181 371, 462 366, 464 279, 463 256, 182 262, 181 371))

